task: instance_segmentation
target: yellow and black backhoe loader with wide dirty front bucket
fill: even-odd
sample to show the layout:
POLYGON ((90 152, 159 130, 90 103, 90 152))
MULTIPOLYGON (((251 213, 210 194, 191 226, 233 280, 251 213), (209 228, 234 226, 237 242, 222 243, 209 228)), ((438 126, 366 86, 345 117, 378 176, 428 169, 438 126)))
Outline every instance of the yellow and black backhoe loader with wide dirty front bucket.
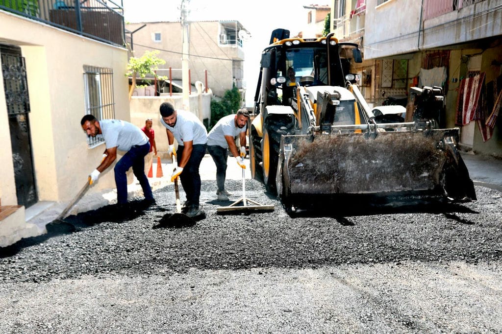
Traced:
POLYGON ((272 32, 249 126, 252 177, 292 210, 355 196, 475 200, 457 150, 459 129, 437 128, 441 88, 415 88, 411 121, 375 116, 349 74, 353 62, 362 62, 358 45, 333 34, 272 32))

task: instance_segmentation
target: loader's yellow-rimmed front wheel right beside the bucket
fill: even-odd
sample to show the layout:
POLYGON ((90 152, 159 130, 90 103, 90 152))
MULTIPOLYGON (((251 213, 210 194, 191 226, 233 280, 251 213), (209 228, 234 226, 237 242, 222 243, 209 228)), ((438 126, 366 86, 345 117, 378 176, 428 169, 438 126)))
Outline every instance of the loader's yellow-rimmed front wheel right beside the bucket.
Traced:
POLYGON ((273 195, 277 195, 276 174, 281 136, 291 134, 294 124, 290 115, 269 115, 263 124, 263 183, 273 195))

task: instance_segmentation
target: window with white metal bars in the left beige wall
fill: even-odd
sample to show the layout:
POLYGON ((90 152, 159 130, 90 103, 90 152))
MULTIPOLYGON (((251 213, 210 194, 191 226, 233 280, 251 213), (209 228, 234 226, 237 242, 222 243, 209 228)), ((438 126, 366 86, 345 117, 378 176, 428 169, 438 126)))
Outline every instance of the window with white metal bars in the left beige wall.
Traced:
MULTIPOLYGON (((84 65, 85 113, 97 120, 115 118, 113 100, 113 70, 111 68, 84 65)), ((90 147, 104 142, 102 135, 87 136, 90 147)))

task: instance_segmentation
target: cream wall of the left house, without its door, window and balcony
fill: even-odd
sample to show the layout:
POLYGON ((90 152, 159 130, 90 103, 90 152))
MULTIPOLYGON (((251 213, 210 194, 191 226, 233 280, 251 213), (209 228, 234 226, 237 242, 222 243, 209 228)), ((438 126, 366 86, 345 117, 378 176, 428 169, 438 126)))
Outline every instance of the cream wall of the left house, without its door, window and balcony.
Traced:
MULTIPOLYGON (((115 118, 129 120, 128 80, 124 76, 127 50, 2 11, 0 40, 3 44, 20 46, 26 59, 39 200, 68 201, 85 184, 104 151, 104 145, 87 148, 86 135, 80 126, 85 114, 83 66, 113 69, 115 118)), ((0 136, 9 146, 0 153, 4 174, 0 195, 2 205, 14 205, 17 200, 3 90, 0 95, 0 136)), ((90 191, 114 188, 112 170, 110 167, 104 172, 90 191)))

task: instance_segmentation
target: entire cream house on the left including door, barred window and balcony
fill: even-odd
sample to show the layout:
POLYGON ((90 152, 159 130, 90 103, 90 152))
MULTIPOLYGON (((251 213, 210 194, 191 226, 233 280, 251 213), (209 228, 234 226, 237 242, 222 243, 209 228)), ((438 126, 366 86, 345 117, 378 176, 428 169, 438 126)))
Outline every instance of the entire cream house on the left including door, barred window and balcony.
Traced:
MULTIPOLYGON (((69 201, 99 164, 104 145, 82 131, 83 115, 130 118, 121 9, 15 3, 26 2, 0 0, 0 205, 22 214, 0 216, 0 246, 25 236, 25 209, 69 201)), ((90 192, 112 187, 107 171, 90 192)))

